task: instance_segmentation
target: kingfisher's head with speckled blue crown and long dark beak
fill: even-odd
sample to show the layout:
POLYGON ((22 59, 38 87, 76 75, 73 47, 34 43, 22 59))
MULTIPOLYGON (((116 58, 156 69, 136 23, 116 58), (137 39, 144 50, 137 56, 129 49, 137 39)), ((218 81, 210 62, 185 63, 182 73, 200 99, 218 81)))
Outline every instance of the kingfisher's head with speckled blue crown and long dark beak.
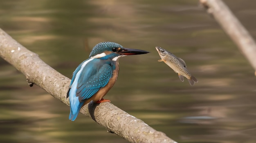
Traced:
POLYGON ((149 52, 144 50, 124 48, 122 45, 114 42, 101 42, 92 48, 89 58, 112 59, 113 61, 117 61, 121 56, 147 53, 149 52))

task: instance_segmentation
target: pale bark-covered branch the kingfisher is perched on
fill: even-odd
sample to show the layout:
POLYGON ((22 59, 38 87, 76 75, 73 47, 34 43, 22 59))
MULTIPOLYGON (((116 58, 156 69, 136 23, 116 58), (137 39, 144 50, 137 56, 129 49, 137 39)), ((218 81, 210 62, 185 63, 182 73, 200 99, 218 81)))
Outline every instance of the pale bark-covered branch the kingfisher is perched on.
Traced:
MULTIPOLYGON (((37 54, 27 50, 0 28, 0 56, 16 67, 31 84, 69 105, 66 99, 70 79, 44 63, 37 54)), ((91 117, 108 132, 115 133, 131 143, 177 143, 142 120, 129 115, 110 102, 85 105, 80 113, 91 117)), ((69 113, 67 113, 68 115, 69 113)), ((70 122, 72 124, 72 122, 70 122)))

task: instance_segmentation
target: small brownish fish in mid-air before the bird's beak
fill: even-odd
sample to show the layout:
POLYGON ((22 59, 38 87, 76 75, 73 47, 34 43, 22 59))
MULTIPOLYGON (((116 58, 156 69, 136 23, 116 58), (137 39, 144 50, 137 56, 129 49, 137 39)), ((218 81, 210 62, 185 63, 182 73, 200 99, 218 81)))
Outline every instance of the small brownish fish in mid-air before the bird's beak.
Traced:
POLYGON ((182 58, 178 58, 174 54, 172 54, 169 51, 164 50, 161 47, 156 46, 155 49, 157 50, 160 60, 158 62, 164 62, 166 65, 171 67, 175 73, 178 74, 180 80, 184 82, 184 78, 186 77, 189 80, 189 84, 193 86, 195 82, 198 82, 198 80, 189 73, 188 69, 186 69, 186 63, 182 58))

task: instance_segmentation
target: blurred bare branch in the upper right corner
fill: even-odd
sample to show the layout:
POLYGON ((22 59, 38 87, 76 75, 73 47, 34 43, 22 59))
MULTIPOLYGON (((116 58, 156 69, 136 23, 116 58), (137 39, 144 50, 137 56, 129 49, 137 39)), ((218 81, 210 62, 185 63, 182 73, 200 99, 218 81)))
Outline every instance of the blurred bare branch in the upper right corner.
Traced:
POLYGON ((256 43, 228 6, 222 0, 200 0, 200 2, 238 45, 238 48, 256 71, 256 43))

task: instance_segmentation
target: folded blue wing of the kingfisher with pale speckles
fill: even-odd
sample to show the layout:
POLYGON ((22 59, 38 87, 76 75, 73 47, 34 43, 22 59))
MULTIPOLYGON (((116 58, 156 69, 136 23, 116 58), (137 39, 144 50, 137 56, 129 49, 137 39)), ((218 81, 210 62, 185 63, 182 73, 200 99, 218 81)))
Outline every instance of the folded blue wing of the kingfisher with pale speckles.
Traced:
POLYGON ((100 60, 87 63, 77 83, 76 96, 79 96, 79 100, 88 99, 105 87, 112 77, 112 70, 109 63, 103 64, 100 60))

